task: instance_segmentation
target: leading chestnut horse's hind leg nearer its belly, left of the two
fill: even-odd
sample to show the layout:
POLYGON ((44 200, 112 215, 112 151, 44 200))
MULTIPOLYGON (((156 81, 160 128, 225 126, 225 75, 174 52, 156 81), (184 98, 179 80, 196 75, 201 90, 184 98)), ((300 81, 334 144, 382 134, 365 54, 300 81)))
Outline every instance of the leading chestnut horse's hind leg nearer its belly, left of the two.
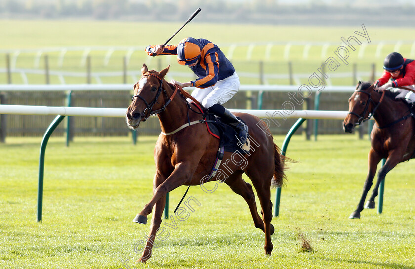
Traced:
POLYGON ((231 188, 233 192, 239 194, 244 198, 249 206, 250 213, 252 215, 253 223, 255 227, 264 231, 264 222, 258 214, 256 209, 255 194, 253 193, 252 186, 242 179, 242 173, 235 172, 230 175, 225 183, 231 188))

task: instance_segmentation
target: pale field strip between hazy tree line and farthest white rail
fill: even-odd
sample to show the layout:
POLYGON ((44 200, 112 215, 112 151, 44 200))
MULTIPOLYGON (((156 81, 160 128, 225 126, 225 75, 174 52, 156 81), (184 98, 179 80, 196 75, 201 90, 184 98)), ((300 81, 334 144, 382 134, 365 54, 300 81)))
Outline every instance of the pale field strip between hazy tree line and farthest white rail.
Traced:
MULTIPOLYGON (((0 49, 45 48, 62 46, 146 46, 162 44, 180 22, 118 22, 71 20, 0 20, 0 49)), ((338 42, 340 38, 362 32, 365 24, 372 41, 412 40, 415 28, 379 28, 356 22, 354 27, 285 26, 256 24, 192 23, 171 41, 183 37, 203 37, 219 45, 245 42, 315 41, 338 42), (393 33, 393 35, 392 35, 393 33)))

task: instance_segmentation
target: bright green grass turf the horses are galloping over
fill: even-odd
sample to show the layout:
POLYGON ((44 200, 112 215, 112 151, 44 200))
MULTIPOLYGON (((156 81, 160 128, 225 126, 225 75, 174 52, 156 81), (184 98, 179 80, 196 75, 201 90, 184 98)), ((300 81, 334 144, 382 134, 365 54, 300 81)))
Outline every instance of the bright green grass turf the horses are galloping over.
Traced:
MULTIPOLYGON (((281 146, 283 139, 275 141, 281 146)), ((52 137, 37 223, 41 138, 7 138, 0 145, 0 268, 118 269, 129 259, 131 268, 414 269, 414 164, 387 175, 381 215, 365 209, 360 220, 349 220, 369 150, 368 140, 352 134, 291 139, 287 153, 298 163, 289 164, 280 216, 272 221, 270 257, 245 201, 219 183, 211 194, 191 187, 187 197, 201 206, 185 221, 175 217, 177 229, 167 228, 170 235, 153 257, 137 264, 134 245, 149 225, 132 219, 151 198, 155 140, 139 137, 134 146, 126 137, 77 137, 65 147, 63 138, 52 137), (301 238, 312 251, 302 250, 301 238)), ((170 193, 170 214, 184 191, 170 193)))

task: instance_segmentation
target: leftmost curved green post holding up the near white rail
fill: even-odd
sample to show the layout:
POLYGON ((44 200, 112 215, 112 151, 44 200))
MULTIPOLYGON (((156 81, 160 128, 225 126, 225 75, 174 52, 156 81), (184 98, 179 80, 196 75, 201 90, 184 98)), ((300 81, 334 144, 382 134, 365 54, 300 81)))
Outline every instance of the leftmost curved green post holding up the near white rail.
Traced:
POLYGON ((53 122, 49 125, 46 133, 43 135, 41 152, 39 154, 39 180, 38 180, 38 222, 42 222, 42 206, 43 206, 43 173, 44 173, 44 153, 46 151, 47 141, 49 141, 50 135, 62 122, 65 116, 58 115, 53 122))

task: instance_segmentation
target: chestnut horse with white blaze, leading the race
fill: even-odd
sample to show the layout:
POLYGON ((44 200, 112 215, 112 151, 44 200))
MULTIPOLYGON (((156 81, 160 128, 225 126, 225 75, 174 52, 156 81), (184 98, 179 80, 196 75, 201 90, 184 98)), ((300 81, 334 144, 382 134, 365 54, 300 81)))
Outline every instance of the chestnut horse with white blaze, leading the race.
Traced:
MULTIPOLYGON (((130 128, 136 129, 150 115, 157 115, 162 130, 154 149, 156 173, 153 179, 153 197, 133 220, 146 224, 147 215, 154 208, 148 240, 140 262, 146 262, 151 257, 154 238, 162 222, 166 194, 182 185, 202 184, 204 176, 209 175, 212 170, 219 148, 219 139, 208 133, 205 123, 189 126, 190 122, 202 120, 202 115, 194 107, 190 109, 191 106, 186 101, 186 97, 190 96, 188 93, 182 89, 177 93, 178 87, 175 88, 166 82, 164 77, 169 67, 157 72, 148 71, 147 66, 143 65, 142 76, 134 85, 134 97, 126 112, 126 122, 130 128)), ((251 147, 249 154, 243 155, 245 161, 242 165, 238 162, 228 162, 232 160, 232 155, 230 152, 224 152, 224 162, 218 169, 226 169, 229 176, 219 179, 216 175, 209 181, 220 180, 245 199, 255 227, 265 233, 265 254, 271 255, 271 235, 274 233, 274 226, 271 224, 270 188, 281 186, 286 179, 285 159, 280 154, 278 146, 274 144, 265 123, 250 114, 235 115, 245 121, 249 127, 249 139, 255 140, 259 146, 254 150, 251 147), (256 208, 252 186, 242 179, 243 173, 251 179, 256 189, 262 218, 256 208)))

